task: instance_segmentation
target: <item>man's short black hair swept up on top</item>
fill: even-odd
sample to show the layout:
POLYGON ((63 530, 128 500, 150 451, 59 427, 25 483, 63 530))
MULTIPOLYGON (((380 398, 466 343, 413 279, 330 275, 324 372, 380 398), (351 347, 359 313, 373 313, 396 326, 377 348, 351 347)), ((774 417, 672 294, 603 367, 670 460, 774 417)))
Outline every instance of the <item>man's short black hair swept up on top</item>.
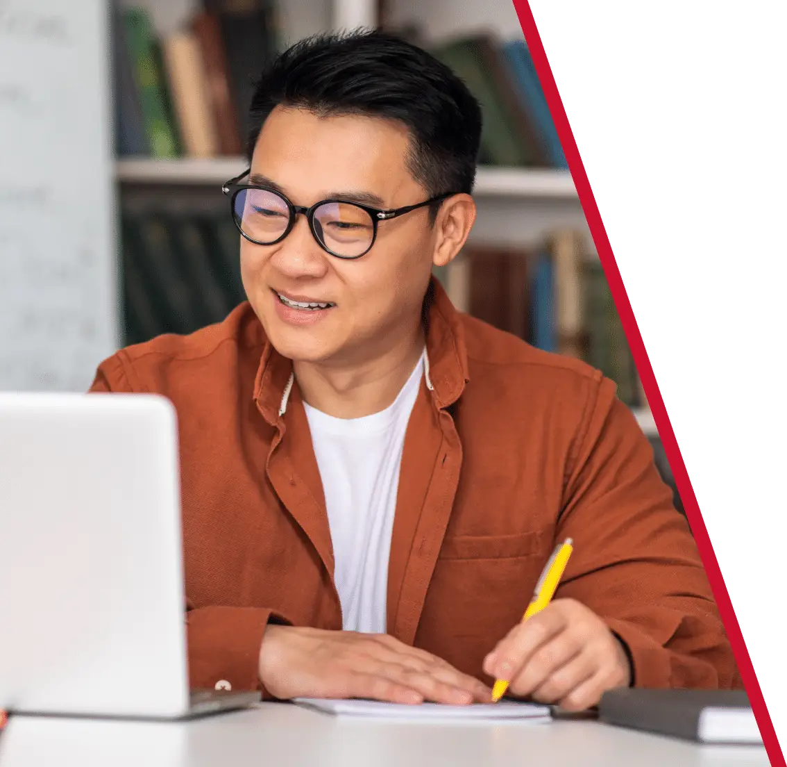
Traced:
POLYGON ((411 135, 408 170, 430 197, 473 190, 481 142, 478 101, 449 67, 398 35, 379 30, 312 35, 275 58, 258 80, 249 109, 249 160, 276 106, 324 117, 397 120, 411 135))

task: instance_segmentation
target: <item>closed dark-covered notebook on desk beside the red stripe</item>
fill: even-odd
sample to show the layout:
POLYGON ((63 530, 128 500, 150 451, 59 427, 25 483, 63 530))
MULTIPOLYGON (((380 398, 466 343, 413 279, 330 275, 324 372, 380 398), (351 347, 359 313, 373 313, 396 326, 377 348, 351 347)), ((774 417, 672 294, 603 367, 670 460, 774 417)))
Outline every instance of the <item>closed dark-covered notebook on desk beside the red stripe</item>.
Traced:
POLYGON ((697 743, 763 743, 743 690, 611 690, 598 715, 608 724, 697 743))

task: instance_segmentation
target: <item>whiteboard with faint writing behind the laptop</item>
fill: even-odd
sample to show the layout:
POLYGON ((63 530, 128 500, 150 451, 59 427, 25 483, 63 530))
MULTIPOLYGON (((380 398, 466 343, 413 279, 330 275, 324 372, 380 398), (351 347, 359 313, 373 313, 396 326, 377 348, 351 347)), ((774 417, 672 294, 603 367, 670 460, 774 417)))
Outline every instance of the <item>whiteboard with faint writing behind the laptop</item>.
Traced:
POLYGON ((0 391, 84 391, 118 344, 108 0, 0 0, 0 391))

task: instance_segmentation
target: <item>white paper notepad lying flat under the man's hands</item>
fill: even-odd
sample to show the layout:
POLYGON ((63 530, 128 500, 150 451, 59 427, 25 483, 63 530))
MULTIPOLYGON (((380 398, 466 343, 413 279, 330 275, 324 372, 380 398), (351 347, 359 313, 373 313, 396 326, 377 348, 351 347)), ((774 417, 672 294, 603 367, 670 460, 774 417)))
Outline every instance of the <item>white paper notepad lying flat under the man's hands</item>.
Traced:
POLYGON ((405 706, 372 700, 331 700, 323 698, 296 698, 298 706, 331 713, 340 717, 399 719, 407 721, 548 721, 548 706, 534 703, 476 703, 471 706, 442 706, 438 703, 421 703, 405 706))

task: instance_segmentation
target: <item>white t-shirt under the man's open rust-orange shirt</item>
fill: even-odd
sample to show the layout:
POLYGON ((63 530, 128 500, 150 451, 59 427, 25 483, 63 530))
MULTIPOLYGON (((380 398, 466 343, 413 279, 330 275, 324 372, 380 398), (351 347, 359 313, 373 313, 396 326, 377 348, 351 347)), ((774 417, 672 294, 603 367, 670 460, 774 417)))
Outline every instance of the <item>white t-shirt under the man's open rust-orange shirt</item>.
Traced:
POLYGON ((386 632, 393 514, 405 432, 424 355, 390 407, 362 418, 334 418, 305 405, 334 547, 342 628, 386 632))

